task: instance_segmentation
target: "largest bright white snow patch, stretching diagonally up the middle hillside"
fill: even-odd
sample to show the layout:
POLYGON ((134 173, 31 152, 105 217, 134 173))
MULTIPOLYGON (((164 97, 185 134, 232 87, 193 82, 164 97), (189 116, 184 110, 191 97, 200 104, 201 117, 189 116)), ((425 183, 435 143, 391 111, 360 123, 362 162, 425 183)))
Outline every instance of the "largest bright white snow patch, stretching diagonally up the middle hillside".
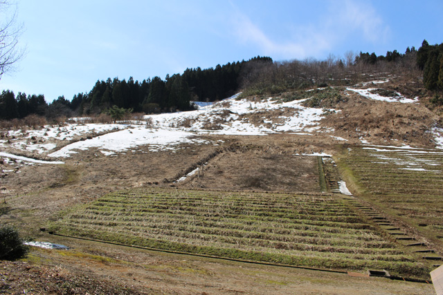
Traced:
POLYGON ((145 120, 152 120, 150 124, 152 126, 128 125, 128 129, 69 144, 48 156, 69 157, 79 150, 94 147, 100 149, 105 155, 127 151, 141 145, 148 145, 150 151, 174 149, 174 146, 183 142, 208 144, 204 140, 195 138, 195 135, 209 133, 266 135, 281 131, 313 131, 312 127, 318 124, 324 113, 324 110, 320 108, 302 106, 302 101, 281 104, 271 98, 260 102, 249 102, 246 99, 235 100, 235 98, 236 96, 225 99, 197 111, 146 115, 145 120), (279 122, 266 119, 266 113, 269 111, 282 109, 289 115, 277 117, 279 122), (257 116, 257 114, 262 124, 250 122, 249 116, 257 116))

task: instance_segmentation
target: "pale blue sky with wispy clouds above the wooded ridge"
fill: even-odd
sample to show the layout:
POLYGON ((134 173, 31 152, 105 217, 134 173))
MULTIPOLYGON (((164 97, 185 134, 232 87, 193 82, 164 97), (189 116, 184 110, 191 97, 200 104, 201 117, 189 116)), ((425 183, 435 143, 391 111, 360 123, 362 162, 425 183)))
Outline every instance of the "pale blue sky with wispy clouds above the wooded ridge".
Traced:
POLYGON ((43 94, 46 102, 72 99, 108 77, 164 79, 257 55, 385 55, 423 39, 443 42, 441 0, 19 0, 17 12, 26 55, 0 89, 43 94))

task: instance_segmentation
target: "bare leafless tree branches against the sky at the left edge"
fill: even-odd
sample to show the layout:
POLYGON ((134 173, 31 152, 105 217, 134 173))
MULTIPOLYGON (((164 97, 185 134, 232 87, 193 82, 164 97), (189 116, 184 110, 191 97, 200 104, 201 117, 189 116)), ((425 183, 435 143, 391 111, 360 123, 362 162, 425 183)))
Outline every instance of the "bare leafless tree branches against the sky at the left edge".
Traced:
POLYGON ((0 1, 0 79, 4 73, 14 70, 17 61, 24 56, 19 47, 23 26, 17 24, 17 7, 8 0, 0 1), (12 14, 10 8, 15 7, 12 14), (9 15, 9 16, 8 16, 9 15))

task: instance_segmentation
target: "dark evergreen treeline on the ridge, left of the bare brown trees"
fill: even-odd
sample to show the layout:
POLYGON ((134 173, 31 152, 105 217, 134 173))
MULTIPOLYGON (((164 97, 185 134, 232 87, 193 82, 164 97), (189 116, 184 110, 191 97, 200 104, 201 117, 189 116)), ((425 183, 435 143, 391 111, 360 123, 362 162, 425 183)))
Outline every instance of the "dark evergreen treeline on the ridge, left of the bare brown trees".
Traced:
POLYGON ((161 113, 188 111, 190 101, 214 102, 235 94, 243 76, 253 66, 249 64, 272 64, 271 57, 254 57, 217 65, 215 68, 187 68, 183 74, 167 75, 134 81, 108 78, 97 81, 89 93, 78 93, 69 101, 64 96, 47 104, 44 95, 3 91, 0 95, 0 119, 24 118, 28 115, 45 116, 55 120, 60 116, 94 115, 109 111, 111 106, 130 109, 133 112, 161 113))

